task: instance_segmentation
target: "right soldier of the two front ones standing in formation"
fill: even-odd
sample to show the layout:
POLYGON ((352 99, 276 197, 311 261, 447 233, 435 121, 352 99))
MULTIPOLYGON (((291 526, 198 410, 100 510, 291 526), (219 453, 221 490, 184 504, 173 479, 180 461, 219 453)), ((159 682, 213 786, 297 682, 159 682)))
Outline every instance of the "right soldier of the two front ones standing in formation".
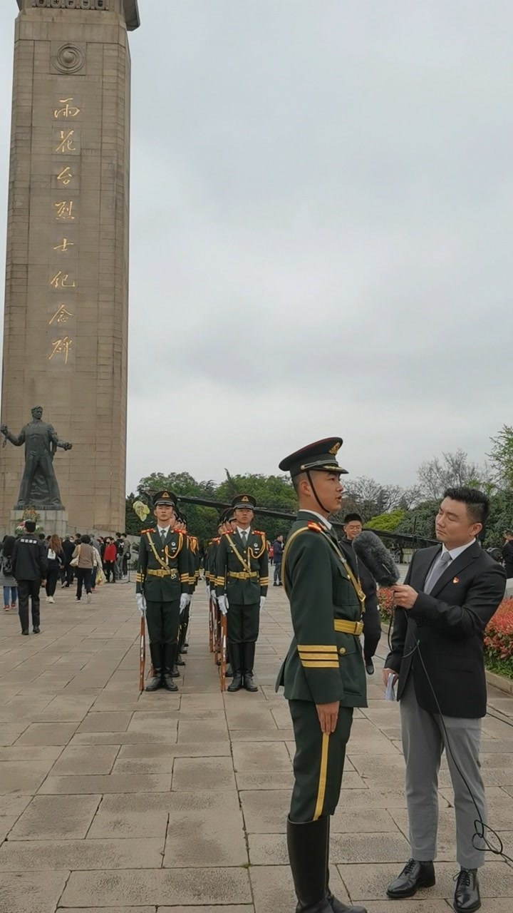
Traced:
POLYGON ((222 614, 228 615, 228 650, 233 681, 228 691, 257 691, 253 678, 260 611, 266 602, 268 555, 266 534, 251 529, 257 501, 237 495, 232 501, 236 530, 225 532, 217 547, 215 592, 222 614))

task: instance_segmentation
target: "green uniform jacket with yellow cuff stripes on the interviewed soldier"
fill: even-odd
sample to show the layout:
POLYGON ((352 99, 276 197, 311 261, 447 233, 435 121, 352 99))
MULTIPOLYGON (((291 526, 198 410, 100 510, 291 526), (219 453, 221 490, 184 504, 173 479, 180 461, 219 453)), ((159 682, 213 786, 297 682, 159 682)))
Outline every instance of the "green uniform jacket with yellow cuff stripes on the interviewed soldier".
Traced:
POLYGON ((334 533, 307 510, 290 530, 281 573, 294 636, 276 689, 285 686, 288 700, 366 707, 363 593, 334 533))

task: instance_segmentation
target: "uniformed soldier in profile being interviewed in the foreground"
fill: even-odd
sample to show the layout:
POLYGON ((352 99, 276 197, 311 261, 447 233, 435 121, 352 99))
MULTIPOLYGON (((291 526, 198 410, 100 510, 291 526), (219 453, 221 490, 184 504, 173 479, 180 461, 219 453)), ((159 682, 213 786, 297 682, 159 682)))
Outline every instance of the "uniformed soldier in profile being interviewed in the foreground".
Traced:
MULTIPOLYGON (((340 437, 287 456, 298 495, 282 581, 294 635, 277 688, 285 687, 294 728, 294 788, 287 821, 288 858, 301 913, 365 913, 330 892, 330 815, 335 812, 353 708, 366 707, 361 655, 361 585, 328 517, 340 509, 340 437)), ((229 614, 228 614, 229 618, 229 614)))

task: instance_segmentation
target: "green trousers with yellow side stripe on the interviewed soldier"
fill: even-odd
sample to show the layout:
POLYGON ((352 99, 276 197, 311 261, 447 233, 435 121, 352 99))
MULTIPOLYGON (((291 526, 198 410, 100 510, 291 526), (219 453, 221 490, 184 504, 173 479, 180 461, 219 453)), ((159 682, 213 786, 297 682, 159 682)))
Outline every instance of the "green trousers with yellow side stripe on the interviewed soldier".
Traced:
POLYGON ((334 814, 340 798, 352 707, 340 707, 337 728, 330 736, 320 731, 317 708, 309 700, 289 700, 296 754, 290 820, 303 824, 334 814))

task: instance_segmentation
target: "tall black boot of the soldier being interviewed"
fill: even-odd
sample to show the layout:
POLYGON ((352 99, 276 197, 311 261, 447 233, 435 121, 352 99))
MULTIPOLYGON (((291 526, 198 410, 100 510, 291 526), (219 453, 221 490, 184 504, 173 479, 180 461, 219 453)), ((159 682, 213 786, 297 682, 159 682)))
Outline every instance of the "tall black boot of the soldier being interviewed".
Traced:
POLYGON ((328 817, 296 824, 287 819, 290 869, 298 897, 296 913, 333 913, 326 892, 328 817))

